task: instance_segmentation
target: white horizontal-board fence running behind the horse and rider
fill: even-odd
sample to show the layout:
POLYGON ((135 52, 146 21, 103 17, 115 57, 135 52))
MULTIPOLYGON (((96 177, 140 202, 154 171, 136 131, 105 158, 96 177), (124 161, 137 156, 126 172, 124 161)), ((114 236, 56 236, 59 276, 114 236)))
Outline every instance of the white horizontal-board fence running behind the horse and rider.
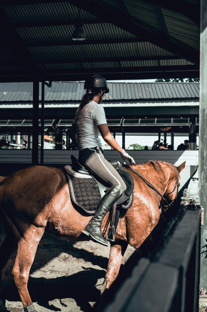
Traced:
MULTIPOLYGON (((129 151, 134 157, 136 163, 142 163, 146 160, 163 160, 171 162, 175 165, 186 161, 186 168, 181 172, 181 186, 190 178, 196 171, 199 164, 199 151, 129 151)), ((44 150, 45 164, 67 164, 70 163, 70 156, 78 156, 78 151, 57 151, 44 150)), ((104 156, 108 160, 120 160, 121 157, 116 151, 105 150, 104 156)), ((40 161, 40 151, 39 151, 40 161)), ((0 164, 2 163, 32 163, 31 150, 0 150, 0 164)))

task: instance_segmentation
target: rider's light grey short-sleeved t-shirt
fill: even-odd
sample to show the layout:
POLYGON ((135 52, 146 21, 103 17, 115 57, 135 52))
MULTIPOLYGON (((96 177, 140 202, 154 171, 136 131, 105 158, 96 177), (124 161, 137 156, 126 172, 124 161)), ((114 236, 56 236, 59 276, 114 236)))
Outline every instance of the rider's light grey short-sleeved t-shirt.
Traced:
POLYGON ((104 108, 90 101, 80 110, 77 108, 73 123, 76 125, 78 150, 101 147, 99 125, 107 124, 104 108))

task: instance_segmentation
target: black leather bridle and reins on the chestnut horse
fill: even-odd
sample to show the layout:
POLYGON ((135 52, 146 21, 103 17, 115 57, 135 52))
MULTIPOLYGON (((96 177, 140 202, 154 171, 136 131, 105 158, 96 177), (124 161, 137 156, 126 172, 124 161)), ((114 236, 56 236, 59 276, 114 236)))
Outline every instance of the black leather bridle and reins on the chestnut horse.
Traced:
POLYGON ((123 164, 123 166, 126 167, 126 168, 128 168, 128 169, 130 169, 130 170, 133 171, 135 174, 137 174, 137 175, 140 177, 140 179, 142 179, 142 181, 144 181, 150 188, 152 188, 152 189, 161 197, 161 201, 160 201, 160 204, 159 204, 159 208, 160 208, 163 212, 166 212, 167 209, 170 208, 170 207, 174 204, 174 202, 175 202, 175 200, 176 200, 176 198, 177 198, 177 195, 176 195, 176 197, 175 197, 170 203, 168 203, 168 201, 167 201, 167 199, 164 197, 164 195, 172 194, 172 193, 176 190, 176 187, 177 187, 177 191, 178 191, 178 187, 179 187, 179 185, 178 185, 178 180, 176 181, 176 184, 175 184, 175 186, 174 186, 174 188, 173 188, 173 190, 172 190, 171 192, 169 192, 169 193, 164 193, 164 195, 162 195, 162 194, 156 189, 156 187, 154 187, 154 186, 153 186, 149 181, 147 181, 140 173, 138 173, 137 171, 135 171, 135 170, 134 170, 132 167, 130 167, 128 164, 123 164), (164 205, 164 203, 165 203, 165 205, 164 205))

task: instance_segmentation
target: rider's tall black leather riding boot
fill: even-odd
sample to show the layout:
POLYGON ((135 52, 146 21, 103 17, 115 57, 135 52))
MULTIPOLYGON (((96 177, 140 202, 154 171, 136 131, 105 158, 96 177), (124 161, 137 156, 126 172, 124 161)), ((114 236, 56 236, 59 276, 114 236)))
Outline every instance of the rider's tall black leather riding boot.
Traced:
POLYGON ((119 197, 120 186, 117 184, 113 185, 101 199, 92 220, 86 225, 82 233, 91 236, 96 242, 108 246, 107 241, 101 234, 101 223, 109 209, 113 206, 119 197))

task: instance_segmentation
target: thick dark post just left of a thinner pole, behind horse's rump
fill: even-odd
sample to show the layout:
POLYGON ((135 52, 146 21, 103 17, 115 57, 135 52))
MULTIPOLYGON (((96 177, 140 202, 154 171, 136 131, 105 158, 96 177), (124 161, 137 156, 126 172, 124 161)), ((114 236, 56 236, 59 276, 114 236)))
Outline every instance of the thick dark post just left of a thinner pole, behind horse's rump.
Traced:
POLYGON ((32 163, 38 164, 39 137, 39 81, 33 81, 33 111, 32 111, 32 163))

